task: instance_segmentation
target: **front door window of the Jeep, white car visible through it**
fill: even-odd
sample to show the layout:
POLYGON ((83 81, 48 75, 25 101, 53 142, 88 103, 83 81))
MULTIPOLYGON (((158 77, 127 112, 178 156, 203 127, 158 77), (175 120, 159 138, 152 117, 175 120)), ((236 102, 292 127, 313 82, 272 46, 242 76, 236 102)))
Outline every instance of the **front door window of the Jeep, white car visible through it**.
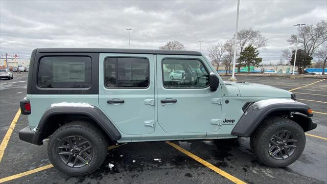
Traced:
POLYGON ((164 59, 162 74, 166 88, 203 88, 209 85, 209 75, 196 59, 164 59))

